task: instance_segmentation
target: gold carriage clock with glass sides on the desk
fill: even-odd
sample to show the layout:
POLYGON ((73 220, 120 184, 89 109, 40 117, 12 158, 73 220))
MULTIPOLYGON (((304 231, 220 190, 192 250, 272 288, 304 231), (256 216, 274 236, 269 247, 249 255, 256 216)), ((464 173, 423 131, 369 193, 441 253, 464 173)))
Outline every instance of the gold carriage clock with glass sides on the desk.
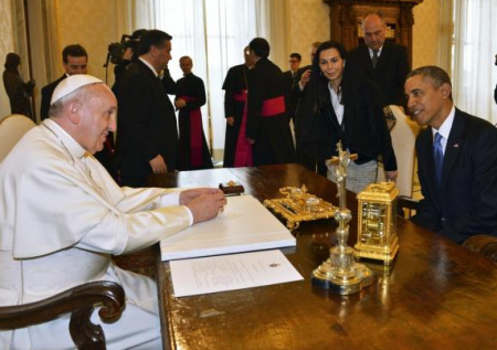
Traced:
POLYGON ((399 251, 396 237, 395 182, 369 184, 357 195, 359 201, 356 256, 383 261, 389 265, 399 251))

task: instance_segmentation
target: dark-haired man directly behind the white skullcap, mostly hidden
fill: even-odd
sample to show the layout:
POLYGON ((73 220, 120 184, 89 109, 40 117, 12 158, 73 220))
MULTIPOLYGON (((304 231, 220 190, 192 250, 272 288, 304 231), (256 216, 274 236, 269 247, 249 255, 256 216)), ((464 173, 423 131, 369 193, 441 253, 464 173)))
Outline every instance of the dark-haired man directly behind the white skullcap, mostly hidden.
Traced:
POLYGON ((88 54, 85 47, 80 44, 67 45, 62 51, 62 64, 64 66, 64 74, 55 82, 42 88, 42 102, 40 108, 41 119, 49 117, 50 102, 55 87, 70 75, 86 74, 88 67, 88 54))

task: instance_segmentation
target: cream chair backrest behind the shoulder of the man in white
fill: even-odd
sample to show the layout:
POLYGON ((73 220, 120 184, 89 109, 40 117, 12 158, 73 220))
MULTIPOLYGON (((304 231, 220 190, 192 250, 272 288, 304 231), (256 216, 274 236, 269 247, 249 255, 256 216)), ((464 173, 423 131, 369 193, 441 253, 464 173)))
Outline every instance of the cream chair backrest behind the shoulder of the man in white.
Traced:
POLYGON ((20 114, 13 114, 0 120, 0 162, 21 137, 35 126, 33 120, 20 114))

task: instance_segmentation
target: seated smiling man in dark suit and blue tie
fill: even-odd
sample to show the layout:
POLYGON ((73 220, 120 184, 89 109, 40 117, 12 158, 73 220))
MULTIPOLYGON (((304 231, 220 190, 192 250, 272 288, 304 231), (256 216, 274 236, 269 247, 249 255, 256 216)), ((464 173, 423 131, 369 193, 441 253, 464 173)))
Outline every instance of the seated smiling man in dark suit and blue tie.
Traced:
POLYGON ((497 235, 497 129, 454 107, 440 67, 411 72, 405 95, 410 115, 429 126, 416 139, 424 199, 412 221, 459 244, 497 235))

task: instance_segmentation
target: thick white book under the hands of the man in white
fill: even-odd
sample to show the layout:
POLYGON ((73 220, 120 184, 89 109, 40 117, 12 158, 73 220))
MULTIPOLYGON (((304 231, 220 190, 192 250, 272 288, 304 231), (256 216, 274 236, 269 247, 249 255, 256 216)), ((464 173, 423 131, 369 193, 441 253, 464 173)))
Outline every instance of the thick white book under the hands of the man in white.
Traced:
POLYGON ((160 241, 162 261, 296 245, 288 229, 252 195, 226 200, 218 218, 160 241))

